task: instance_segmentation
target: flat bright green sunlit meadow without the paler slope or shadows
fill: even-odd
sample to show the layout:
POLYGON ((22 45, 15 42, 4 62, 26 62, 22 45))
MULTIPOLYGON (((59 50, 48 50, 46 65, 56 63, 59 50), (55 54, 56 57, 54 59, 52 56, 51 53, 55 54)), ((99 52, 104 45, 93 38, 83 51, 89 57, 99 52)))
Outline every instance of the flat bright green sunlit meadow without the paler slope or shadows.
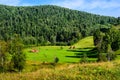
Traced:
POLYGON ((63 46, 63 49, 60 46, 41 46, 35 48, 39 52, 31 53, 29 52, 31 49, 27 49, 27 60, 31 61, 40 61, 40 62, 53 62, 55 57, 59 58, 59 62, 76 62, 79 61, 77 58, 67 58, 67 55, 74 56, 74 52, 69 52, 67 49, 69 47, 63 46))

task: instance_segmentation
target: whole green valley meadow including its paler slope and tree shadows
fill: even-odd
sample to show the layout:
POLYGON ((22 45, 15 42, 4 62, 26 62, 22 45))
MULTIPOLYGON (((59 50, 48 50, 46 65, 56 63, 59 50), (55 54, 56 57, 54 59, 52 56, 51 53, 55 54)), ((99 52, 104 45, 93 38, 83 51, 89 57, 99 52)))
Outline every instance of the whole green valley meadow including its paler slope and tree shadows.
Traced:
MULTIPOLYGON (((28 61, 54 62, 54 58, 58 57, 59 63, 80 62, 82 54, 89 54, 89 51, 94 48, 93 37, 86 37, 73 46, 74 49, 69 49, 70 46, 38 46, 27 48, 24 52, 27 54, 28 61), (37 52, 30 52, 31 50, 37 52)), ((92 57, 89 60, 96 60, 96 58, 92 57)))

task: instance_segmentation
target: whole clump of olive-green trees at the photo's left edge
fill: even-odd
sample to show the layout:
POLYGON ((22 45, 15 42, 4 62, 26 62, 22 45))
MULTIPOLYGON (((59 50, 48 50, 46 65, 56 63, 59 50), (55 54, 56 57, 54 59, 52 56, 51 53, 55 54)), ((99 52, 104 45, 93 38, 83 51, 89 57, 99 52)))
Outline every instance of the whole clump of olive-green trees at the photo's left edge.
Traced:
POLYGON ((26 56, 22 52, 23 44, 18 36, 9 42, 0 40, 0 72, 22 71, 26 56))

